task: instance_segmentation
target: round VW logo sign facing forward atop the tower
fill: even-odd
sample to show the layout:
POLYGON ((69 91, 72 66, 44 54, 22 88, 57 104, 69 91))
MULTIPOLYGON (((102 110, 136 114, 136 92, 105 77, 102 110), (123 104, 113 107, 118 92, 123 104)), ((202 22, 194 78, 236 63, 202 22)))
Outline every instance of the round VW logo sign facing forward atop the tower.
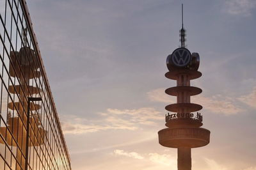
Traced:
POLYGON ((191 53, 188 49, 179 48, 172 53, 172 62, 175 66, 186 66, 191 61, 191 53))

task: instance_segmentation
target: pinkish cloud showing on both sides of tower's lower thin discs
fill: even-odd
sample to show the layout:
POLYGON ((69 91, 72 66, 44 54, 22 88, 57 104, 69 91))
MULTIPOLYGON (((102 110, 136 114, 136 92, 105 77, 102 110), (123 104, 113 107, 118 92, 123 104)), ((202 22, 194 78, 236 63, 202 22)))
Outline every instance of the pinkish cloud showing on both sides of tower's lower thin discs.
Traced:
MULTIPOLYGON (((164 88, 149 91, 147 95, 151 101, 164 102, 168 104, 176 103, 174 97, 171 98, 164 93, 164 88)), ((237 114, 238 112, 243 111, 243 109, 241 109, 234 103, 234 99, 229 97, 223 97, 222 95, 216 95, 212 97, 196 95, 191 97, 191 102, 203 105, 204 109, 207 109, 218 114, 230 115, 237 114)))

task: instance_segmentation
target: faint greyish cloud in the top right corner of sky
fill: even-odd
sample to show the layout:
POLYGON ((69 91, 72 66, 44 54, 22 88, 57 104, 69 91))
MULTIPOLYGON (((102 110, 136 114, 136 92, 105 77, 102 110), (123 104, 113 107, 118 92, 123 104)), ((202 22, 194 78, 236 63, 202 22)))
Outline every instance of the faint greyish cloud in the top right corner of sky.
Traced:
POLYGON ((256 2, 254 0, 228 0, 225 11, 231 15, 250 16, 256 2))

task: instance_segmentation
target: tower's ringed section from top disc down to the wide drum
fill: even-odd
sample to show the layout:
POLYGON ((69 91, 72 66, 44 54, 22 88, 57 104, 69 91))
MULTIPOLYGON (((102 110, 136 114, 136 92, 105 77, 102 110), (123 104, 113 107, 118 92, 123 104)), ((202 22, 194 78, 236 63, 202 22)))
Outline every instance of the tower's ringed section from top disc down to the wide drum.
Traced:
POLYGON ((202 93, 202 89, 190 86, 190 81, 201 76, 201 72, 188 68, 173 69, 165 74, 177 81, 177 86, 165 90, 166 94, 177 97, 177 103, 165 107, 171 113, 165 116, 168 128, 158 132, 159 144, 168 148, 198 148, 209 144, 210 131, 200 128, 203 116, 198 111, 203 107, 190 102, 191 96, 202 93))

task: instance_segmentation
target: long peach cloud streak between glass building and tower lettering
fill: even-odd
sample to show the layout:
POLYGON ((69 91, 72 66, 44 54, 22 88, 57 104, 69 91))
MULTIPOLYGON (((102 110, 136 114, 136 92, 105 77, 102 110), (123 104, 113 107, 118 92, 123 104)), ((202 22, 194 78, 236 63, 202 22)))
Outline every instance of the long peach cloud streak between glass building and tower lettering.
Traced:
POLYGON ((156 120, 163 120, 161 112, 152 107, 139 109, 107 109, 99 112, 97 120, 86 120, 74 115, 61 117, 61 128, 64 134, 86 134, 99 130, 123 129, 136 130, 141 126, 154 126, 156 120))

